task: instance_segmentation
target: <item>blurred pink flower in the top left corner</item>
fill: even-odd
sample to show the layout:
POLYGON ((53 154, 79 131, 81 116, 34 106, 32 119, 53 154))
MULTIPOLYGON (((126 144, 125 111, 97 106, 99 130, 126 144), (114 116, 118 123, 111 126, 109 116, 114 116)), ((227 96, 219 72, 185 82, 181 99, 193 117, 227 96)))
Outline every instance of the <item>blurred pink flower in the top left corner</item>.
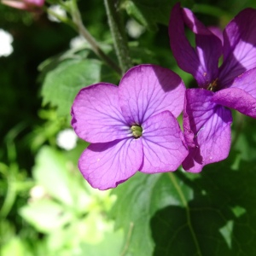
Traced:
POLYGON ((44 0, 2 0, 1 3, 16 9, 36 11, 44 5, 44 0))

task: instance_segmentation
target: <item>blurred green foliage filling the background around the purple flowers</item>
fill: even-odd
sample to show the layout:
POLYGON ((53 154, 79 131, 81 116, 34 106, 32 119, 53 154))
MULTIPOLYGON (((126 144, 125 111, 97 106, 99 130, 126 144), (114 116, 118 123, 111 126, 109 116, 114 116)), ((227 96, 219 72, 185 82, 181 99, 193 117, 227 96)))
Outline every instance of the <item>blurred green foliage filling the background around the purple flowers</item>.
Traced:
MULTIPOLYGON (((57 2, 57 1, 55 1, 57 2)), ((134 65, 177 67, 167 24, 174 0, 120 0, 134 65), (135 23, 136 24, 136 23, 135 23)), ((207 25, 224 27, 253 0, 183 0, 207 25)), ((84 25, 117 61, 101 0, 80 1, 84 25)), ((234 113, 228 160, 200 174, 137 173, 113 191, 91 189, 77 168, 88 143, 65 150, 60 131, 70 127, 70 107, 84 86, 118 84, 119 76, 90 44, 65 24, 0 5, 0 28, 14 37, 14 52, 0 57, 1 255, 255 255, 255 120, 234 113)))

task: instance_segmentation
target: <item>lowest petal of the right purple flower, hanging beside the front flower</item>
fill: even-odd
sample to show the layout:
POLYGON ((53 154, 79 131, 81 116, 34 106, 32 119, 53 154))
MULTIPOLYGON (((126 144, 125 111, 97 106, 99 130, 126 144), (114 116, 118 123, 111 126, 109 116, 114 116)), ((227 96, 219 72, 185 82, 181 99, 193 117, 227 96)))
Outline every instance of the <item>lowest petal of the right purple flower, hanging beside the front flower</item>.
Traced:
POLYGON ((201 172, 203 166, 224 160, 230 152, 231 112, 212 102, 210 90, 186 91, 183 128, 189 155, 183 161, 188 172, 201 172))

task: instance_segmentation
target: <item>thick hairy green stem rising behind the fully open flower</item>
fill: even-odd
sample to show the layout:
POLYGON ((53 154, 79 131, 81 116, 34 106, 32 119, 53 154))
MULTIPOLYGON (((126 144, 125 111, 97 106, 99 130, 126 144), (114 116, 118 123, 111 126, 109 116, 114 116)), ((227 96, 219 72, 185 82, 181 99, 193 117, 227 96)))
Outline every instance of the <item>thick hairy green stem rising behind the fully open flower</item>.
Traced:
POLYGON ((125 73, 130 67, 132 67, 129 48, 125 38, 125 27, 118 11, 116 10, 116 7, 114 6, 113 0, 104 0, 104 3, 108 15, 108 24, 112 33, 116 55, 122 69, 122 73, 125 73))

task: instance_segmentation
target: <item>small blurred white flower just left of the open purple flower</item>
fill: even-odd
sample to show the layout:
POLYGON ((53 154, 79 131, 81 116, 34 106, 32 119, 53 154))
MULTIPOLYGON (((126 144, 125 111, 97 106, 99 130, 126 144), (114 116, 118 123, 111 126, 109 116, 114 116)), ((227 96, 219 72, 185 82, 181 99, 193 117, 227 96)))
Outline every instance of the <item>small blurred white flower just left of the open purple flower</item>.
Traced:
POLYGON ((57 145, 60 148, 71 150, 77 145, 78 137, 73 129, 65 129, 60 131, 57 135, 57 145))

